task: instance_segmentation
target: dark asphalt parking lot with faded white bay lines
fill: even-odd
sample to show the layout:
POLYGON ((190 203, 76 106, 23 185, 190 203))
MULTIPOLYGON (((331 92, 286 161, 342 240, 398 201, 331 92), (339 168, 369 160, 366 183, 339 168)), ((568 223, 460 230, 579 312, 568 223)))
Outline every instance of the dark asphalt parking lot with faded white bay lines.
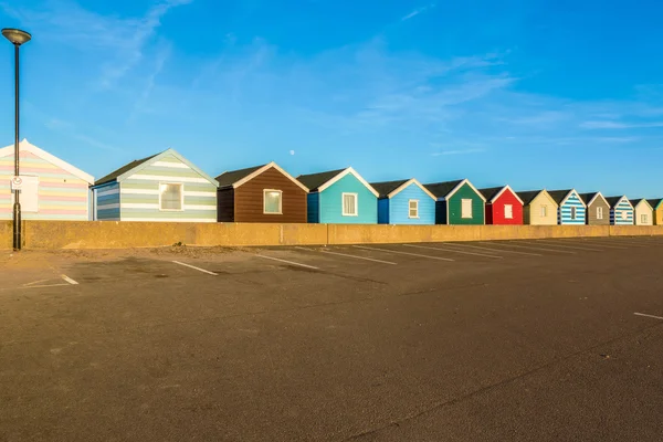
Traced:
POLYGON ((660 441, 663 239, 4 253, 1 441, 660 441))

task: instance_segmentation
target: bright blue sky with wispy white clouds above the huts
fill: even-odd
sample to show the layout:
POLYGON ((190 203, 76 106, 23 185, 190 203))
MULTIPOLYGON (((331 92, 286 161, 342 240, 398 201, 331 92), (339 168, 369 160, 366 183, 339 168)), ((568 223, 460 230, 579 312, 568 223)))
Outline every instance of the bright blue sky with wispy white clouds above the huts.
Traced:
MULTIPOLYGON (((172 147, 369 181, 663 196, 663 4, 21 0, 21 138, 101 177, 172 147)), ((13 51, 0 51, 13 140, 13 51)))

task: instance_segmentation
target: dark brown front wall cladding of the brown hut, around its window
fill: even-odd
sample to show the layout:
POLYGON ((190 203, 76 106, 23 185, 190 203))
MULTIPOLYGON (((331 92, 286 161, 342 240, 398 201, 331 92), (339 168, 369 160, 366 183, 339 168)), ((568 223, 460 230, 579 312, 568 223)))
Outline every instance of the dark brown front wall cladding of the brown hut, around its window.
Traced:
POLYGON ((275 168, 234 189, 234 222, 306 222, 307 192, 275 168), (281 214, 264 213, 264 190, 281 190, 281 214))

